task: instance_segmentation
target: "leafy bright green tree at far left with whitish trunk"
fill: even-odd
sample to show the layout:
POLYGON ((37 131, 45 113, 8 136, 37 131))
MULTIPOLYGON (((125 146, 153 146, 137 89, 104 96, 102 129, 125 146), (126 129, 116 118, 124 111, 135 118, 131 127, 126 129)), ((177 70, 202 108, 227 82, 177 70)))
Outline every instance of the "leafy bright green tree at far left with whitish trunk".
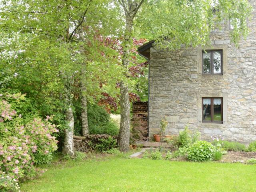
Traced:
MULTIPOLYGON (((110 76, 108 70, 113 79, 118 76, 116 59, 112 59, 115 52, 103 49, 99 46, 100 38, 95 38, 99 34, 108 36, 112 31, 104 26, 115 28, 114 24, 106 24, 113 21, 106 17, 109 13, 105 0, 4 0, 0 5, 0 71, 9 77, 4 79, 9 83, 1 86, 26 93, 35 101, 40 115, 54 114, 54 120, 65 133, 67 154, 74 154, 73 95, 82 92, 83 98, 100 97, 99 84, 112 81, 104 77, 110 76), (82 50, 86 46, 88 52, 82 50), (105 51, 109 58, 100 57, 105 51), (77 81, 82 89, 77 88, 77 81)), ((82 108, 86 112, 84 103, 82 108)))

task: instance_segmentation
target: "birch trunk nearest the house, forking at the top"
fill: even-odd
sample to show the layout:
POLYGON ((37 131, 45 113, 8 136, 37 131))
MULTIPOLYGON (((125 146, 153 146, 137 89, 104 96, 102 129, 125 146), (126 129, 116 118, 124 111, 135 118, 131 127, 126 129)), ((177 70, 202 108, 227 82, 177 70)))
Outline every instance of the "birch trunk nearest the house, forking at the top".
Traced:
MULTIPOLYGON (((132 22, 136 13, 138 12, 140 6, 144 0, 141 0, 139 3, 137 0, 131 1, 120 0, 120 4, 124 8, 125 17, 126 17, 126 28, 124 32, 124 42, 123 48, 124 53, 122 56, 122 65, 128 70, 129 64, 129 53, 130 53, 130 42, 132 39, 132 22)), ((127 71, 128 72, 128 71, 127 71)), ((126 74, 127 76, 127 74, 126 74)), ((118 145, 119 149, 122 152, 129 150, 130 142, 130 101, 128 94, 128 84, 125 82, 120 83, 120 130, 118 135, 118 145)))

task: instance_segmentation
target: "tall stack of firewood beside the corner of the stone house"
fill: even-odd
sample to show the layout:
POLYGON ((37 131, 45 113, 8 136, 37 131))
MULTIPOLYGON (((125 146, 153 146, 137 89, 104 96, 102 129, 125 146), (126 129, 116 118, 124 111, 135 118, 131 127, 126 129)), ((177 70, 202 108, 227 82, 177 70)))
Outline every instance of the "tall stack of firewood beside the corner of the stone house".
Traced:
POLYGON ((148 102, 134 102, 132 104, 132 122, 134 123, 134 117, 138 117, 140 120, 140 125, 144 129, 142 140, 147 140, 148 138, 148 102))

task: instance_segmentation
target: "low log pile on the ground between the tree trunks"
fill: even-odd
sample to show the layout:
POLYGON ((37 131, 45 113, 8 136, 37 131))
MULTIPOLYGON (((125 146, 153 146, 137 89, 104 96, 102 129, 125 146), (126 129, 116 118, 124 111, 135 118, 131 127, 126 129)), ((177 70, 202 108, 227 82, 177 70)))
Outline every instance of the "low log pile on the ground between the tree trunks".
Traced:
MULTIPOLYGON (((74 139, 74 148, 76 151, 88 152, 95 150, 95 146, 100 144, 102 141, 100 139, 108 139, 112 137, 108 134, 96 134, 96 135, 86 135, 86 136, 73 136, 74 139)), ((117 137, 112 137, 117 142, 117 137)))

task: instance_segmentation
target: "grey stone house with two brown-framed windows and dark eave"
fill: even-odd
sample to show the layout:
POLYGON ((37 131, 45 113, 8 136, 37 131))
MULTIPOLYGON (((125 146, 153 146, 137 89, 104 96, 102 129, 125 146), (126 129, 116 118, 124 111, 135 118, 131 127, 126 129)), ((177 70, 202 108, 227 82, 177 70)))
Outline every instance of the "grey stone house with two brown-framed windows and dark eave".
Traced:
MULTIPOLYGON (((250 0, 253 9, 256 0, 250 0)), ((184 126, 201 138, 222 135, 225 140, 256 140, 256 11, 248 23, 247 40, 230 42, 230 22, 211 34, 212 46, 157 50, 150 41, 138 48, 149 60, 148 134, 166 134, 184 126), (206 50, 206 52, 204 52, 206 50)))

